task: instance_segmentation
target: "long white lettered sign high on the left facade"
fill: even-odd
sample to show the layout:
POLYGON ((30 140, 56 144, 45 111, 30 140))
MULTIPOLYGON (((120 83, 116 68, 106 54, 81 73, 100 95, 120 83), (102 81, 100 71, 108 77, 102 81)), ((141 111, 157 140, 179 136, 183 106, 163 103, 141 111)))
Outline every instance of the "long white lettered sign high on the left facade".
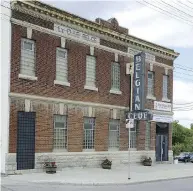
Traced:
POLYGON ((100 38, 89 35, 84 32, 80 32, 78 30, 75 30, 66 26, 54 24, 54 31, 56 31, 57 33, 63 34, 65 37, 69 36, 69 37, 89 41, 92 43, 100 44, 100 38))

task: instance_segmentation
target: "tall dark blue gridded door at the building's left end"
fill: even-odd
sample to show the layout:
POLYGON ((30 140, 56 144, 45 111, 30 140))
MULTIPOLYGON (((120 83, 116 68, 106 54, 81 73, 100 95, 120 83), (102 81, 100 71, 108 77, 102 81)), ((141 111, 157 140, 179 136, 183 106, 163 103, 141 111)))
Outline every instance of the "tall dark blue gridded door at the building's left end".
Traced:
POLYGON ((34 169, 35 113, 18 112, 17 170, 34 169))

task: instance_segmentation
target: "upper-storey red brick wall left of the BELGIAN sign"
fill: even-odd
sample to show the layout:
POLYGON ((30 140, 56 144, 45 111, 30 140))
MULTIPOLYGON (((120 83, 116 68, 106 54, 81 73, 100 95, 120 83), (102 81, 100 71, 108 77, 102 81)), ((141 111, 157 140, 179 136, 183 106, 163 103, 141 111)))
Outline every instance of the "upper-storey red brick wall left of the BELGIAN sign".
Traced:
POLYGON ((122 95, 110 94, 111 63, 115 56, 113 53, 95 49, 96 86, 99 91, 85 90, 86 55, 89 54, 89 47, 67 40, 68 76, 71 86, 54 85, 56 47, 60 47, 60 38, 35 30, 33 30, 32 39, 36 42, 36 76, 38 80, 18 79, 21 38, 26 37, 26 30, 24 27, 12 25, 11 92, 129 106, 129 77, 125 75, 125 63, 128 62, 128 58, 119 56, 122 95))

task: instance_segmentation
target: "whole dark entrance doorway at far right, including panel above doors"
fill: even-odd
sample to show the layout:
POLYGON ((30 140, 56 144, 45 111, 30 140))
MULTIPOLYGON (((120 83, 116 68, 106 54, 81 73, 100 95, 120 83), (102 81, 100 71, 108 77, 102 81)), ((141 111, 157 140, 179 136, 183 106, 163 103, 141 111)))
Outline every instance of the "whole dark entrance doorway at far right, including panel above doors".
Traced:
POLYGON ((168 123, 156 123, 156 161, 168 161, 168 123))

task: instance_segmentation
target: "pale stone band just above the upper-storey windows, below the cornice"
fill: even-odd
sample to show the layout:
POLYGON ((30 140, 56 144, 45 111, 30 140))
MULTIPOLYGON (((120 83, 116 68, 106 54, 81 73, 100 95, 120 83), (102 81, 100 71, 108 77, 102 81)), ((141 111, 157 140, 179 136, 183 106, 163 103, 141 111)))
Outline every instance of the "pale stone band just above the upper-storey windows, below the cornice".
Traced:
MULTIPOLYGON (((24 26, 24 27, 30 27, 33 30, 37 30, 37 31, 40 31, 40 32, 43 32, 43 33, 51 34, 53 36, 65 37, 65 38, 70 39, 72 41, 79 42, 79 43, 82 43, 82 44, 86 44, 88 46, 93 46, 95 48, 102 49, 102 50, 105 50, 105 51, 108 51, 108 52, 111 52, 111 53, 117 53, 117 54, 122 55, 122 56, 133 57, 133 54, 129 54, 129 53, 126 53, 126 52, 123 52, 123 51, 119 51, 119 50, 116 50, 116 49, 113 49, 113 48, 109 48, 109 47, 106 47, 106 46, 103 46, 103 45, 100 45, 100 44, 95 44, 95 43, 92 43, 92 42, 88 42, 88 41, 85 41, 85 40, 81 40, 81 39, 77 39, 77 38, 75 39, 71 36, 66 36, 65 34, 61 35, 60 33, 57 33, 54 30, 44 28, 44 27, 41 27, 41 26, 38 26, 38 25, 34 25, 32 23, 17 20, 17 19, 14 19, 14 18, 11 18, 11 22, 16 24, 16 25, 20 25, 20 26, 24 26)), ((147 60, 147 62, 153 63, 153 64, 161 66, 161 67, 165 67, 165 68, 168 68, 168 69, 173 69, 173 67, 168 66, 168 65, 163 64, 163 63, 153 62, 151 60, 147 60)))

